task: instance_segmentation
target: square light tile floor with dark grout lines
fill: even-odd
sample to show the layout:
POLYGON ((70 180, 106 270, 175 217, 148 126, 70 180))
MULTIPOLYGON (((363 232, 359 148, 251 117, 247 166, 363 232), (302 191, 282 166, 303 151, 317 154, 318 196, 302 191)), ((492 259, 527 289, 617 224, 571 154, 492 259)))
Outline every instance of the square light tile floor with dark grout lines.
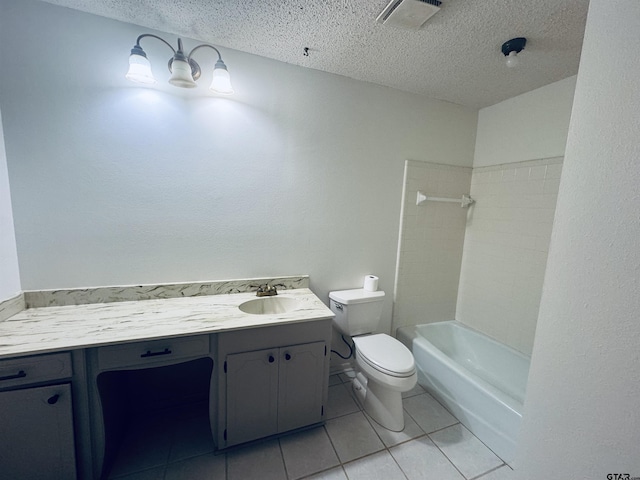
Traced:
POLYGON ((330 377, 324 426, 214 453, 206 409, 142 420, 111 469, 118 480, 509 480, 512 470, 420 386, 405 394, 405 429, 370 419, 349 372, 330 377), (144 432, 140 433, 140 432, 144 432))

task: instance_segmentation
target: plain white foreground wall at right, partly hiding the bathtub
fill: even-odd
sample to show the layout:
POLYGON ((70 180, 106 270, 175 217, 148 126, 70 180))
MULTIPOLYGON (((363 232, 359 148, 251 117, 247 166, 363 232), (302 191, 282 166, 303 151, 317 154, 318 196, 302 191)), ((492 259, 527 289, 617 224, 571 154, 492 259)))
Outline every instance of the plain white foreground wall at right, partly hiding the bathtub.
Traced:
POLYGON ((640 2, 592 0, 516 478, 640 476, 640 2))

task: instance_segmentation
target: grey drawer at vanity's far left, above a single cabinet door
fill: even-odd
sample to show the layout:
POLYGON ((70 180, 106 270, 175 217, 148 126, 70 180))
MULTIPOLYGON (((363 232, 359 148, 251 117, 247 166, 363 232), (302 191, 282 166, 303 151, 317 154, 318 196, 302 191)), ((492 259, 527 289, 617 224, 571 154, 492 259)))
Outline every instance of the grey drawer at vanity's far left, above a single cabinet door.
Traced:
POLYGON ((0 389, 69 379, 71 355, 53 353, 0 361, 0 389))

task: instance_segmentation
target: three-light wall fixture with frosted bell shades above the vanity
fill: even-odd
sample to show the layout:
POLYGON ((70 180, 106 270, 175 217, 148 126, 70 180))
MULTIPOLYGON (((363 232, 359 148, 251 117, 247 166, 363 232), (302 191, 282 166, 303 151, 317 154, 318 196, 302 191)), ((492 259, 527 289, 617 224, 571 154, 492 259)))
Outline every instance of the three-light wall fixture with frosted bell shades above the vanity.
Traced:
POLYGON ((227 66, 222 61, 222 55, 216 47, 203 43, 194 47, 188 55, 184 54, 182 49, 182 39, 178 38, 178 50, 175 50, 169 42, 152 35, 151 33, 145 33, 138 37, 136 44, 131 49, 131 55, 129 56, 129 71, 125 75, 126 78, 132 82, 143 83, 151 85, 156 83, 156 79, 151 72, 151 63, 147 59, 147 54, 142 50, 140 46, 140 40, 144 37, 152 37, 160 40, 167 45, 173 52, 173 57, 169 59, 169 71, 171 72, 171 78, 169 83, 176 87, 193 88, 196 86, 195 80, 200 78, 201 70, 200 65, 191 58, 196 50, 202 47, 212 48, 218 54, 218 60, 213 67, 213 80, 209 86, 209 90, 216 93, 222 93, 224 95, 231 95, 233 93, 233 87, 231 86, 231 77, 227 66))

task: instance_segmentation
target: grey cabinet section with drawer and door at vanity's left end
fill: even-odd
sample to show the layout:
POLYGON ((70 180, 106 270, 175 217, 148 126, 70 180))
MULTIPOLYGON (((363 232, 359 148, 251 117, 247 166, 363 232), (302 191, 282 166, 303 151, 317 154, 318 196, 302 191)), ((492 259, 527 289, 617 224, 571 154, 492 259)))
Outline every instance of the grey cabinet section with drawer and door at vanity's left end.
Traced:
POLYGON ((0 361, 0 477, 76 478, 71 355, 0 361))

